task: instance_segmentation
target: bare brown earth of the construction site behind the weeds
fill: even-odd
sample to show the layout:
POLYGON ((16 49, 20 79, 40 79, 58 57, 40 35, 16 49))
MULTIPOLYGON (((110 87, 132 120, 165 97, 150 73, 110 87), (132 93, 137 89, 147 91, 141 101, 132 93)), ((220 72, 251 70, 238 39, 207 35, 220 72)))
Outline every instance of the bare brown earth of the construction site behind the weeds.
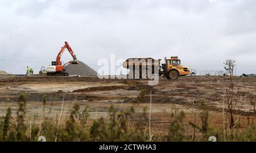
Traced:
MULTIPOLYGON (((233 78, 236 91, 234 106, 235 122, 240 118, 241 128, 245 128, 248 121, 255 124, 256 78, 233 78), (249 120, 248 120, 249 118, 249 120)), ((192 131, 188 122, 200 125, 201 118, 199 101, 205 100, 209 109, 209 126, 222 128, 224 111, 228 114, 228 107, 224 99, 226 85, 229 81, 224 76, 184 76, 177 80, 167 80, 160 77, 159 83, 148 86, 148 80, 130 79, 98 79, 97 77, 43 77, 43 76, 0 76, 0 115, 5 115, 7 107, 13 108, 15 116, 18 109, 18 95, 24 91, 27 95, 26 122, 37 114, 44 117, 43 95, 47 95, 46 115, 56 117, 60 115, 63 104, 63 118, 68 114, 74 103, 80 104, 80 111, 89 107, 89 122, 108 117, 108 108, 113 104, 118 111, 135 108, 134 120, 142 120, 143 108, 150 112, 151 99, 151 127, 153 131, 164 132, 173 116, 183 111, 187 131, 192 131), (142 90, 148 92, 138 100, 142 90), (224 110, 224 111, 223 111, 224 110), (196 116, 196 118, 195 118, 196 116), (195 120, 196 119, 196 120, 195 120)), ((149 116, 149 114, 148 114, 149 116)), ((228 122, 229 118, 226 118, 228 122)))

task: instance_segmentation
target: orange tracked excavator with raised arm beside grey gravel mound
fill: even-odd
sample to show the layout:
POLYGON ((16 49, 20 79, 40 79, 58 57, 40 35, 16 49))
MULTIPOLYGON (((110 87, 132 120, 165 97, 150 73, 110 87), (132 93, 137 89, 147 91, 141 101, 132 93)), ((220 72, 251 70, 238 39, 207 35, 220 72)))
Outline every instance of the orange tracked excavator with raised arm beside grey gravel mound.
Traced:
POLYGON ((57 55, 56 61, 52 61, 52 65, 49 65, 46 69, 48 76, 68 76, 68 73, 65 72, 65 69, 63 67, 67 66, 68 64, 79 64, 79 61, 76 59, 76 55, 71 49, 71 46, 69 46, 68 42, 65 41, 65 45, 61 47, 60 52, 57 55), (62 65, 60 59, 62 54, 64 53, 65 49, 68 49, 68 52, 73 57, 73 61, 69 61, 62 65))

